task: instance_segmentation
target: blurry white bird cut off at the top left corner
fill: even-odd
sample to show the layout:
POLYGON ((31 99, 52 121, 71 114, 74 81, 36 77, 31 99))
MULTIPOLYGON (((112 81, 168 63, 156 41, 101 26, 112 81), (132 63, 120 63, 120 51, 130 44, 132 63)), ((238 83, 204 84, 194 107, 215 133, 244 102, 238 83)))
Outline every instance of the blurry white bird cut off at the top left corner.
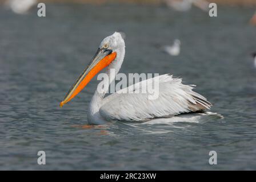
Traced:
POLYGON ((26 14, 35 3, 37 0, 9 0, 6 2, 6 6, 10 7, 14 13, 26 14))

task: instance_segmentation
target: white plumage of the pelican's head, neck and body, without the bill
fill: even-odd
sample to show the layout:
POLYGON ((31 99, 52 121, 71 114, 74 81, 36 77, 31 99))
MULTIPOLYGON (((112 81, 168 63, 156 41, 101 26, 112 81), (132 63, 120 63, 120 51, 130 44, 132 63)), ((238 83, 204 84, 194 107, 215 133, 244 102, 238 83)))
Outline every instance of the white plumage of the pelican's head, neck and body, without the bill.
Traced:
MULTIPOLYGON (((101 45, 106 43, 111 45, 113 52, 117 52, 117 57, 107 67, 106 73, 110 75, 110 69, 115 69, 115 73, 118 73, 125 57, 125 42, 115 32, 105 38, 101 45)), ((173 117, 181 113, 210 109, 210 102, 193 92, 194 85, 183 85, 181 78, 173 78, 168 74, 158 78, 159 97, 156 100, 149 100, 148 93, 127 93, 131 87, 134 90, 142 89, 142 83, 131 85, 107 97, 104 96, 108 88, 102 88, 99 84, 89 105, 89 123, 103 124, 109 120, 149 121, 152 118, 173 117), (123 93, 124 90, 126 93, 123 93)))

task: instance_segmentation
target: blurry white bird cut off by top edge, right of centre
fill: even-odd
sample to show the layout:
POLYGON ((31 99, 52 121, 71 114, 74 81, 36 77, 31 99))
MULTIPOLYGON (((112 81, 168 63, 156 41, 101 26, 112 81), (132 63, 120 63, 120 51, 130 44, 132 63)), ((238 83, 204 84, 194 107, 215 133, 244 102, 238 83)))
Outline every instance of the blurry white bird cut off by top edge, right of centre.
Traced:
POLYGON ((209 2, 205 0, 165 0, 166 5, 177 11, 188 11, 191 6, 197 6, 203 11, 209 9, 209 2))

